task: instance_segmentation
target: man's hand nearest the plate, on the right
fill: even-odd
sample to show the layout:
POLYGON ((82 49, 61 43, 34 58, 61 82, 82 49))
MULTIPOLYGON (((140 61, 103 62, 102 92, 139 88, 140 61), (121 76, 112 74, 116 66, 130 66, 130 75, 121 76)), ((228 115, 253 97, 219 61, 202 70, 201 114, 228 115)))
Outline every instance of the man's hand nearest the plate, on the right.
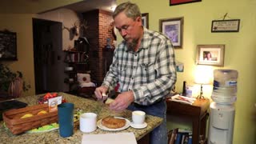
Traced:
POLYGON ((125 110, 131 102, 134 102, 133 91, 123 92, 121 94, 118 94, 118 97, 114 99, 114 102, 110 103, 110 110, 125 110))

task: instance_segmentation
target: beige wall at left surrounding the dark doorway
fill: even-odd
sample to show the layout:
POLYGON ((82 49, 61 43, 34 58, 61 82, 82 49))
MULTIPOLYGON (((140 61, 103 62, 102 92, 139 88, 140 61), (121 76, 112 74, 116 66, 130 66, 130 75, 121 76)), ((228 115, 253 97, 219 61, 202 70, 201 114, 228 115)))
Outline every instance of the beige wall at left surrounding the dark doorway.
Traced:
MULTIPOLYGON (((33 23, 32 18, 41 18, 64 23, 64 26, 70 28, 74 26, 79 17, 72 10, 59 9, 47 12, 45 14, 0 14, 0 30, 10 30, 17 33, 17 53, 18 61, 2 62, 10 67, 11 70, 19 70, 31 88, 22 95, 35 94, 34 86, 34 53, 33 53, 33 23)), ((62 30, 62 49, 74 47, 75 36, 70 39, 68 30, 62 30)), ((63 68, 64 70, 64 68, 63 68)), ((59 76, 62 76, 60 74, 59 76)), ((64 79, 64 78, 62 78, 64 79)), ((68 91, 68 85, 64 85, 64 90, 68 91)))

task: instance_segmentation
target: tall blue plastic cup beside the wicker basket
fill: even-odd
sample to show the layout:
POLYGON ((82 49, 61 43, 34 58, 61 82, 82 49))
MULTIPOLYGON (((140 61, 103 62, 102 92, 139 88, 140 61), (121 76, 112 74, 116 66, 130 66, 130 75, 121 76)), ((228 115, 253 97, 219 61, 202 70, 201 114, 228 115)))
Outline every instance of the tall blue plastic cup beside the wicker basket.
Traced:
POLYGON ((74 104, 62 103, 58 105, 59 134, 66 138, 73 135, 74 129, 74 104))

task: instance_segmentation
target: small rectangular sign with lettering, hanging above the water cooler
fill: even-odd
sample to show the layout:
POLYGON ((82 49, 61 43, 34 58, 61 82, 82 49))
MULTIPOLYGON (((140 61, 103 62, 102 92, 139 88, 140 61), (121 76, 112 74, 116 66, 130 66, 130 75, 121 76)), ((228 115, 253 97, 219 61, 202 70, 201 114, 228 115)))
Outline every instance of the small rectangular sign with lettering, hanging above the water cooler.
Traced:
POLYGON ((211 23, 211 32, 238 32, 240 19, 215 20, 211 23))

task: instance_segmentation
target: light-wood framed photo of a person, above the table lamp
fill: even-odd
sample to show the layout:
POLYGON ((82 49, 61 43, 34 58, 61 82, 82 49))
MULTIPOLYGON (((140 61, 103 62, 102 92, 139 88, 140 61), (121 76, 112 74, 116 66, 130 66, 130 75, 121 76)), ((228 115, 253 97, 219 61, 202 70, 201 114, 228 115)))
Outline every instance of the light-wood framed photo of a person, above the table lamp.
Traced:
POLYGON ((198 45, 197 64, 224 66, 225 45, 198 45))

